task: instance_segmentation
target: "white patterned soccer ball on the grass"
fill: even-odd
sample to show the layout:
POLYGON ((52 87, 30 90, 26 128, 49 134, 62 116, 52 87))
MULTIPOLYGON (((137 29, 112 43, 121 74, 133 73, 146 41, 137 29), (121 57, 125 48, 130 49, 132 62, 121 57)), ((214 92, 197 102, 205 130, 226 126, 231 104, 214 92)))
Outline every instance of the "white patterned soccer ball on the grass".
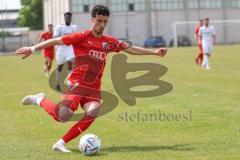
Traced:
POLYGON ((84 155, 95 155, 99 153, 101 141, 94 134, 85 134, 79 141, 79 149, 84 155))

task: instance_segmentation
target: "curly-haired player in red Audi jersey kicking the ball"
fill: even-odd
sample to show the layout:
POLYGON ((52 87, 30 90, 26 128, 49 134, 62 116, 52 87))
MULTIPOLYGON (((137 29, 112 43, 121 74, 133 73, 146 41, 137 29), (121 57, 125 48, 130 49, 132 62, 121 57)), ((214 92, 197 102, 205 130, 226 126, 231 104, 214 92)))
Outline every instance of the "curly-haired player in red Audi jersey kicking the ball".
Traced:
MULTIPOLYGON (((96 5, 91 11, 92 27, 79 33, 65 35, 51 39, 35 46, 22 47, 16 54, 23 58, 32 52, 52 45, 72 45, 75 54, 74 68, 69 76, 71 88, 62 97, 59 104, 55 104, 45 97, 44 93, 28 95, 23 98, 23 105, 38 105, 58 122, 68 121, 80 104, 84 110, 84 117, 63 135, 52 147, 53 151, 70 152, 65 144, 84 132, 96 119, 100 106, 100 87, 106 57, 110 52, 124 51, 132 55, 155 55, 163 57, 167 49, 149 50, 138 46, 126 47, 117 39, 103 34, 107 26, 110 11, 106 6, 96 5), (107 44, 116 44, 111 50, 106 49, 107 44)), ((107 47, 108 48, 108 47, 107 47)), ((111 47, 109 47, 111 48, 111 47)))

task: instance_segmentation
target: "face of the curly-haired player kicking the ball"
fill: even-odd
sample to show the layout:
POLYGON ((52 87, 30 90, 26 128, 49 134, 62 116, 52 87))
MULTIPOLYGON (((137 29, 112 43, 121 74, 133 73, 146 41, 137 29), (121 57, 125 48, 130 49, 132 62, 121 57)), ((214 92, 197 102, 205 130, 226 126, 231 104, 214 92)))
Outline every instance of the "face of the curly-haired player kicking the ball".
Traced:
POLYGON ((92 18, 93 30, 98 34, 103 34, 105 27, 107 26, 108 16, 97 15, 92 18))

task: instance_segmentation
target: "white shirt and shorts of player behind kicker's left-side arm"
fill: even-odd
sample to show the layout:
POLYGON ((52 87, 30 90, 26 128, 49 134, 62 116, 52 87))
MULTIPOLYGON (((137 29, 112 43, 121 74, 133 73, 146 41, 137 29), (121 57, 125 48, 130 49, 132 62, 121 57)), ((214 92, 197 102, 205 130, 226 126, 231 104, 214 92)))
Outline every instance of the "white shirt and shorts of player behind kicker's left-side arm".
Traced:
MULTIPOLYGON (((65 25, 61 24, 56 27, 56 30, 53 33, 53 37, 61 37, 67 34, 71 34, 77 31, 76 25, 65 25)), ((57 46, 57 52, 56 52, 56 60, 57 64, 61 65, 64 64, 66 61, 73 60, 74 58, 74 52, 72 45, 66 46, 66 45, 58 45, 57 46)))

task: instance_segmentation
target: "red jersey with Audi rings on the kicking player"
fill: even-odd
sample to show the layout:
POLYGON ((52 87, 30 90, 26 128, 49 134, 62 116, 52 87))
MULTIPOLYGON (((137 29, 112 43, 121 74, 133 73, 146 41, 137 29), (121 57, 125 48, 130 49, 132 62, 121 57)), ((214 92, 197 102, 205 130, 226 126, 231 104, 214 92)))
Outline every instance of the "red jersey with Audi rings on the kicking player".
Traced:
MULTIPOLYGON (((69 81, 100 89, 106 58, 110 52, 106 51, 104 46, 107 43, 119 46, 119 41, 106 35, 95 37, 90 30, 65 35, 62 41, 65 45, 73 46, 75 55, 74 68, 68 78, 69 81)), ((120 52, 119 48, 115 47, 111 52, 120 52)))

